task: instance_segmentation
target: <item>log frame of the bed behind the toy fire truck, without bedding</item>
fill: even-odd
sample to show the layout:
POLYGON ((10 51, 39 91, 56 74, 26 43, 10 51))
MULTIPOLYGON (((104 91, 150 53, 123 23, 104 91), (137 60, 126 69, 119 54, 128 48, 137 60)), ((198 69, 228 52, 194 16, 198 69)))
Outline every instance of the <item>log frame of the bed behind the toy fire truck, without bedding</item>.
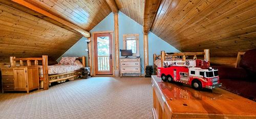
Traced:
POLYGON ((186 52, 186 53, 174 53, 172 55, 168 55, 165 53, 165 51, 161 51, 160 55, 153 54, 153 64, 154 64, 154 71, 157 73, 157 66, 155 64, 155 61, 158 58, 161 58, 161 67, 163 67, 163 61, 165 61, 165 58, 167 56, 172 57, 173 61, 175 61, 175 57, 182 56, 182 61, 186 60, 186 56, 194 56, 193 59, 197 58, 197 56, 204 56, 204 59, 207 61, 210 61, 210 51, 209 49, 205 49, 204 52, 186 52))

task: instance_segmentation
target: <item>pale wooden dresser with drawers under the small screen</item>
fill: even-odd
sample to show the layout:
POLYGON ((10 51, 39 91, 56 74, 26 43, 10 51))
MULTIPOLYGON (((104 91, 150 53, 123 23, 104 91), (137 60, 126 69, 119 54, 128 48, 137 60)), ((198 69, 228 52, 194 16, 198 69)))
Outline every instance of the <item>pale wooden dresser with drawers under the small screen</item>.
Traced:
POLYGON ((140 58, 120 58, 120 74, 138 74, 140 72, 140 58))

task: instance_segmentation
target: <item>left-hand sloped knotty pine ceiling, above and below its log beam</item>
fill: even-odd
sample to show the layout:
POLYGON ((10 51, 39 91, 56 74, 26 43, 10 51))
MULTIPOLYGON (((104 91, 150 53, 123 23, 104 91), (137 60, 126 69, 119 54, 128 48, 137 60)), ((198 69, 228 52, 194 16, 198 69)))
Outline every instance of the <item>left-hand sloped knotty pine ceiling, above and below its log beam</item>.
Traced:
MULTIPOLYGON (((87 31, 111 13, 105 0, 27 2, 87 31)), ((0 1, 0 30, 0 66, 8 63, 10 56, 48 55, 49 60, 56 60, 82 37, 60 22, 9 0, 0 1)))

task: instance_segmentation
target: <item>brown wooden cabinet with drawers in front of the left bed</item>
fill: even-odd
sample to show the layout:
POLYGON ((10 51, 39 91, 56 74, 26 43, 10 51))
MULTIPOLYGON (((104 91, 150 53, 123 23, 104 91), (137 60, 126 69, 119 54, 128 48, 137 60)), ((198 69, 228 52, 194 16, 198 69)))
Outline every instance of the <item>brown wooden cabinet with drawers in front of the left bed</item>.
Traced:
POLYGON ((27 91, 39 89, 38 66, 16 66, 2 68, 2 86, 5 91, 27 91))

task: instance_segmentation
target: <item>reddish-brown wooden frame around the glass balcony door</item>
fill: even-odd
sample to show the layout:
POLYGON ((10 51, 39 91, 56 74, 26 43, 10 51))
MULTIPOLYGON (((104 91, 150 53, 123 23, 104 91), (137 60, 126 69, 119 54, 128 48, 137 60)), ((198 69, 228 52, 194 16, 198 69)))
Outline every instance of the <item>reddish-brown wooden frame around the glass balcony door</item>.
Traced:
POLYGON ((94 58, 95 58, 95 45, 94 45, 94 34, 103 34, 103 33, 110 33, 111 34, 111 37, 112 37, 112 39, 111 39, 111 44, 112 44, 112 75, 107 75, 107 76, 115 76, 115 69, 114 69, 114 67, 115 67, 115 64, 114 64, 114 59, 113 58, 115 58, 115 54, 114 54, 114 52, 115 52, 115 47, 114 47, 114 32, 113 31, 96 31, 96 32, 92 32, 92 37, 91 37, 91 51, 92 51, 92 64, 93 64, 93 66, 92 66, 92 73, 91 73, 91 76, 104 76, 104 75, 96 75, 96 68, 95 68, 95 60, 94 60, 94 58))

